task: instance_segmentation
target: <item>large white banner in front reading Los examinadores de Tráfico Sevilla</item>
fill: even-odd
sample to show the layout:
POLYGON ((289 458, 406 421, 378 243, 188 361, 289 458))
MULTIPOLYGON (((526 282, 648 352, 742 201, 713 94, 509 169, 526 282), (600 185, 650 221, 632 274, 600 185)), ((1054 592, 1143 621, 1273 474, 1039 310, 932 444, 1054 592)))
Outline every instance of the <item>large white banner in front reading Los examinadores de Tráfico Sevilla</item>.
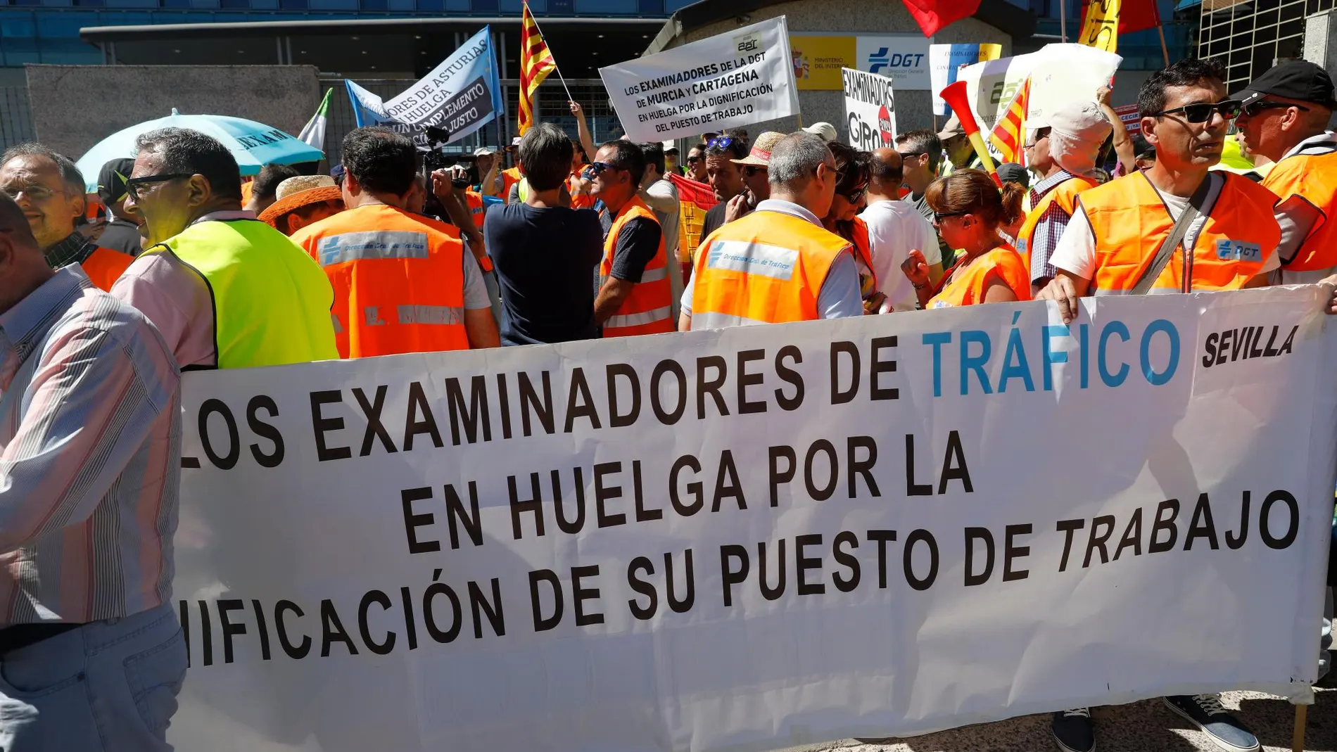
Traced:
POLYGON ((1230 688, 1312 701, 1325 301, 187 374, 168 740, 759 751, 1230 688))

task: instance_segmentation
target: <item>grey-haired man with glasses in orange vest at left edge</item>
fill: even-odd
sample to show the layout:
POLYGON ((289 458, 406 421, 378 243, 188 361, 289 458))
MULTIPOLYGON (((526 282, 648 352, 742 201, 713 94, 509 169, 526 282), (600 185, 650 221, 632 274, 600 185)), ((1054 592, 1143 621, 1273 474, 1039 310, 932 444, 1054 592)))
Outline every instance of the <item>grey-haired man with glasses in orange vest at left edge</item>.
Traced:
POLYGON ((111 290, 130 254, 100 247, 76 230, 84 215, 84 179, 70 158, 39 143, 19 144, 0 156, 0 191, 28 219, 51 268, 80 264, 100 290, 111 290))

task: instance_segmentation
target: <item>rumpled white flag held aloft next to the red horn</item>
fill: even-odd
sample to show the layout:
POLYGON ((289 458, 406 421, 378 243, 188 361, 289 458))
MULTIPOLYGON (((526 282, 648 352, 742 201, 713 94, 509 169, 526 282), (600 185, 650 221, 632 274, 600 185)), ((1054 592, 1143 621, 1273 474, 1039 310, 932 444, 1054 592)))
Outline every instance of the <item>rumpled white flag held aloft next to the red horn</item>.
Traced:
POLYGON ((1039 118, 1068 102, 1095 102, 1123 57, 1084 44, 1046 44, 1036 52, 968 65, 957 80, 969 85, 971 107, 980 128, 991 130, 1012 103, 1017 87, 1031 77, 1027 118, 1039 118))

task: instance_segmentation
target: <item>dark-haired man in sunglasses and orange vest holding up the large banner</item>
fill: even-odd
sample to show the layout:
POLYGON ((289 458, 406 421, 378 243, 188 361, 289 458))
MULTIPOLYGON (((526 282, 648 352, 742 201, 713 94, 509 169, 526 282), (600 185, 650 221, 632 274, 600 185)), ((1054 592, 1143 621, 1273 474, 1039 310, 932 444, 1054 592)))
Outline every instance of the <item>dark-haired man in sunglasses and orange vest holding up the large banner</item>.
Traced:
MULTIPOLYGON (((1146 171, 1078 196, 1078 210, 1054 251, 1054 280, 1039 299, 1056 301, 1064 323, 1083 295, 1237 290, 1267 283, 1277 267, 1281 228, 1275 196, 1247 178, 1209 168, 1221 162, 1239 102, 1226 99, 1217 60, 1181 60, 1154 72, 1138 93, 1142 132, 1157 148, 1146 171), (1186 222, 1189 219, 1189 222, 1186 222)), ((1178 654, 1213 660, 1214 648, 1178 654)), ((1217 656, 1218 657, 1218 656, 1217 656)), ((1258 739, 1215 695, 1174 696, 1166 705, 1231 752, 1258 749, 1258 739)), ((1090 752, 1090 708, 1054 715, 1054 739, 1066 752, 1090 752)))

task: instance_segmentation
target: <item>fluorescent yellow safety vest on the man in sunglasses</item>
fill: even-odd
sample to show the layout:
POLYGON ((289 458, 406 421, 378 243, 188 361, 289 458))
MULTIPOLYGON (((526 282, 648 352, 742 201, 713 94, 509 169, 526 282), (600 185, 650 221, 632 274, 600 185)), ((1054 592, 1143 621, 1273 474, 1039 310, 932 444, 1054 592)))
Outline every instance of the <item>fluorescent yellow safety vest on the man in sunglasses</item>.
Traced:
POLYGON ((144 252, 166 251, 209 285, 219 369, 338 358, 329 279, 278 230, 254 219, 199 222, 144 252))

